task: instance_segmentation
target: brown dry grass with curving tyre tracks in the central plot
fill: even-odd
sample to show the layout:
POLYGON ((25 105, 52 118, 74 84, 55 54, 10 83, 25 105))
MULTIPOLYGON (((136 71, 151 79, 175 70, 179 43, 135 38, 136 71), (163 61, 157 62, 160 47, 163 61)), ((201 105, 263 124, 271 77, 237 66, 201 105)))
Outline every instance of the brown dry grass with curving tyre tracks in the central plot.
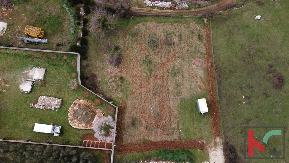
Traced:
POLYGON ((134 27, 132 31, 135 29, 138 30, 138 36, 133 38, 129 38, 129 35, 122 36, 122 40, 127 40, 122 45, 125 54, 120 70, 116 71, 120 72, 131 86, 125 126, 131 126, 130 121, 135 118, 138 122, 137 127, 124 130, 124 142, 141 141, 143 138, 178 139, 178 108, 174 105, 174 100, 170 100, 179 101, 180 97, 200 93, 189 74, 204 77, 204 68, 194 68, 191 62, 193 57, 204 58, 199 56, 199 53, 204 53, 204 44, 197 37, 198 34, 203 34, 203 30, 193 22, 145 23, 134 27), (160 39, 159 45, 153 49, 148 45, 150 34, 156 34, 160 39), (172 40, 169 46, 163 41, 167 38, 172 40), (144 61, 145 58, 149 59, 144 61), (179 62, 182 64, 179 65, 179 62), (173 65, 180 67, 179 75, 176 77, 171 76, 173 65), (176 86, 175 83, 178 81, 181 87, 176 86), (184 88, 181 95, 173 91, 175 87, 184 88))

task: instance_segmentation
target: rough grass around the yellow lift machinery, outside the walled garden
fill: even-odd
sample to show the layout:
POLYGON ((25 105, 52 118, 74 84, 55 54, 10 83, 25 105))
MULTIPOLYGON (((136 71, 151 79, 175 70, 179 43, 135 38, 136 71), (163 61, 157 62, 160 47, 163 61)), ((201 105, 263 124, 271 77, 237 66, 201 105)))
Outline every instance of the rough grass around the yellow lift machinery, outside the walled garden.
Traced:
MULTIPOLYGON (((8 11, 5 16, 0 16, 0 21, 8 23, 5 34, 0 37, 2 46, 67 51, 68 44, 74 43, 77 32, 70 34, 70 16, 63 7, 66 1, 14 2, 11 11, 8 11), (35 43, 27 44, 17 38, 17 35, 27 37, 22 31, 26 25, 42 28, 45 32, 43 39, 48 39, 48 44, 38 43, 36 46, 35 43), (56 46, 56 43, 65 41, 64 46, 56 46)), ((77 25, 75 25, 74 30, 78 31, 77 25)))

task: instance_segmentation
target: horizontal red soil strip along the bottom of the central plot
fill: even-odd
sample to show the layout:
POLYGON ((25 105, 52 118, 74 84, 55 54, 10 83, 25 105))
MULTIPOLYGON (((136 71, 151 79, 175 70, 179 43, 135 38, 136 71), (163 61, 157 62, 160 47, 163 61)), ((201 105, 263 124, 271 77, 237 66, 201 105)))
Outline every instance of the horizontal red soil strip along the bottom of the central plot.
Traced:
POLYGON ((199 149, 204 150, 206 143, 200 139, 180 139, 169 141, 149 141, 127 143, 119 146, 116 150, 117 154, 134 153, 134 152, 147 152, 162 149, 199 149))

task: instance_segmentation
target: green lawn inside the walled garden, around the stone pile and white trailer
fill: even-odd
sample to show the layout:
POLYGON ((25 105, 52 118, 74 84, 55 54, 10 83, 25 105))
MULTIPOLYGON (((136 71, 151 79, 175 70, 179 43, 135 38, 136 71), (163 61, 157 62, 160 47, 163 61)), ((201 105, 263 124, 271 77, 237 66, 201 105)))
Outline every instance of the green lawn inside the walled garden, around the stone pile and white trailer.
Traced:
MULTIPOLYGON (((92 129, 75 129, 68 123, 68 109, 76 99, 85 99, 91 103, 98 98, 90 93, 84 98, 83 93, 87 91, 83 87, 72 90, 69 87, 72 73, 77 73, 76 66, 71 66, 72 61, 76 61, 77 55, 55 54, 56 59, 51 59, 55 53, 39 53, 24 50, 0 50, 0 103, 6 104, 6 108, 0 110, 0 135, 6 139, 23 140, 29 139, 32 142, 42 142, 44 139, 53 138, 51 143, 75 145, 82 144, 83 134, 94 134, 92 129), (35 58, 31 58, 34 53, 35 58), (43 57, 43 54, 45 56, 43 57), (44 87, 40 86, 40 81, 36 81, 30 94, 20 92, 19 85, 21 78, 27 78, 27 72, 33 67, 46 68, 44 87), (6 86, 7 82, 9 86, 6 86), (5 91, 4 91, 5 90, 5 91), (41 110, 30 108, 29 104, 38 99, 39 96, 50 96, 62 99, 60 109, 41 110), (5 98, 6 97, 6 98, 5 98), (57 110, 57 112, 56 112, 57 110), (62 126, 59 137, 47 133, 33 132, 35 123, 62 126)), ((76 79, 77 81, 77 79, 76 79)), ((106 112, 111 107, 110 104, 101 100, 98 109, 106 112)))

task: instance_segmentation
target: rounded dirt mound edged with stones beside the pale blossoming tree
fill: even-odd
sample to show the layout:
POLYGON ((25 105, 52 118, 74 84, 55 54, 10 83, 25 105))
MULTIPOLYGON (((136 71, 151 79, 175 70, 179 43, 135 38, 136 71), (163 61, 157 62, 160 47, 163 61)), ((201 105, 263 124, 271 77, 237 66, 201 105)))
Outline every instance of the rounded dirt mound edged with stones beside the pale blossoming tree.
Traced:
POLYGON ((94 118, 103 117, 101 110, 85 100, 76 99, 68 111, 68 122, 76 129, 92 129, 94 118))

